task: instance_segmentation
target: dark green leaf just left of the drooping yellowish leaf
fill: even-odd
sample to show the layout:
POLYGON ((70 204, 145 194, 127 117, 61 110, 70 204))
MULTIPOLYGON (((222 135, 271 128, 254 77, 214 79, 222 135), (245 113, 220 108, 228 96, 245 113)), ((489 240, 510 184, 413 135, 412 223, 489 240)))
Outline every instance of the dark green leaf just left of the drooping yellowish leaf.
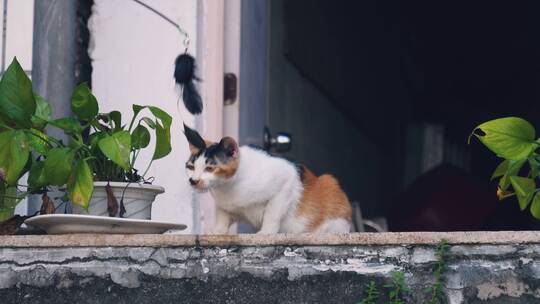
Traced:
POLYGON ((53 148, 45 159, 45 175, 47 180, 56 186, 66 184, 73 168, 75 151, 70 148, 53 148))

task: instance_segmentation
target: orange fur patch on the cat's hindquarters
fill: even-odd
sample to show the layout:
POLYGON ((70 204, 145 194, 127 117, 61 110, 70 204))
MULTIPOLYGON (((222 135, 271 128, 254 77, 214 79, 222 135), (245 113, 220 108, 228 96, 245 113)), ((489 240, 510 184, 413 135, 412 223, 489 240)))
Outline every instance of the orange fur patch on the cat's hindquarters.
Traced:
POLYGON ((338 181, 329 174, 317 177, 304 166, 304 193, 297 215, 308 220, 308 232, 326 220, 342 218, 352 221, 352 208, 338 181))

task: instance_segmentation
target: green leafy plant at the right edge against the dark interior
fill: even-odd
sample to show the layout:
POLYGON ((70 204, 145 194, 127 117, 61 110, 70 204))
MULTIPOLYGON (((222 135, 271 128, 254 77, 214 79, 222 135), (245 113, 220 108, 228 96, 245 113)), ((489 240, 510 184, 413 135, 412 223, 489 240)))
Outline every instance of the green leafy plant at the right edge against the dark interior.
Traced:
POLYGON ((478 125, 469 142, 472 137, 502 158, 491 176, 499 179, 499 200, 515 196, 521 210, 530 205, 532 216, 540 219, 540 139, 534 127, 522 118, 505 117, 478 125))

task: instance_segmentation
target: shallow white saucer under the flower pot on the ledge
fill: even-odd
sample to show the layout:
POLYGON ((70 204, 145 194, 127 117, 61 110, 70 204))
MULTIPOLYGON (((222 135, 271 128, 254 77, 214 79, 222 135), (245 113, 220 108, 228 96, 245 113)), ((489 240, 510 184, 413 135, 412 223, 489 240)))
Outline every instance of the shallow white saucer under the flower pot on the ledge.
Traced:
POLYGON ((107 233, 107 234, 160 234, 165 231, 184 230, 184 224, 151 220, 124 219, 80 214, 47 214, 31 217, 25 224, 39 227, 48 234, 107 233))

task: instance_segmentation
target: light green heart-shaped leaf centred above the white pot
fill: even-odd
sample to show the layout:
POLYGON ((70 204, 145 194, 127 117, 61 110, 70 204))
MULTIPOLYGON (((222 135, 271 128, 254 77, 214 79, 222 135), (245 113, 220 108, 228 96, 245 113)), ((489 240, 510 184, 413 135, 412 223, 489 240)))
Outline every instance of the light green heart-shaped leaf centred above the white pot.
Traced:
POLYGON ((120 131, 99 141, 99 148, 110 160, 124 170, 129 170, 131 136, 128 131, 120 131))

